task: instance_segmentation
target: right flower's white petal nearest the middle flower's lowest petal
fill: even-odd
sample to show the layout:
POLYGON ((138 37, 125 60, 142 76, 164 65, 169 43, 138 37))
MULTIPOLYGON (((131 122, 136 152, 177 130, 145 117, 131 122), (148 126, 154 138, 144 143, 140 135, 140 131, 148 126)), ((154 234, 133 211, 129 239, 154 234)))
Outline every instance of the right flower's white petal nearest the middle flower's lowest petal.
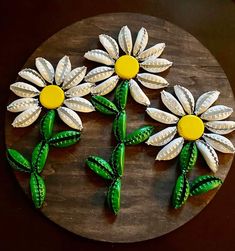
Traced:
POLYGON ((151 118, 163 124, 171 125, 171 124, 176 124, 179 121, 179 118, 176 117, 175 115, 161 111, 157 108, 148 107, 146 109, 146 112, 151 118))

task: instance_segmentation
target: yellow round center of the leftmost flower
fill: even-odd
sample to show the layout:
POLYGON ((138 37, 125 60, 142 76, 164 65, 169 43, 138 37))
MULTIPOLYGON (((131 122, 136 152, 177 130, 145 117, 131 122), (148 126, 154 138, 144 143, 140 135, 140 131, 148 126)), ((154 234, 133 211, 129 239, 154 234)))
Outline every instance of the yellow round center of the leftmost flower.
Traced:
POLYGON ((57 85, 48 85, 42 89, 39 100, 47 109, 58 108, 64 102, 64 91, 57 85))

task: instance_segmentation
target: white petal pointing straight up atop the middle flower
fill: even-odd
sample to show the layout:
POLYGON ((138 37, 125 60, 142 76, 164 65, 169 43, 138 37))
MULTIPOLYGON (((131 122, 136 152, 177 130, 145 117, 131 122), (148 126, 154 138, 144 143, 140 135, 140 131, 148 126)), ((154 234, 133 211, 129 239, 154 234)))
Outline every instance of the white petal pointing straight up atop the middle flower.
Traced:
POLYGON ((132 37, 131 31, 127 26, 123 26, 118 35, 118 42, 122 50, 126 54, 131 54, 132 51, 132 37))

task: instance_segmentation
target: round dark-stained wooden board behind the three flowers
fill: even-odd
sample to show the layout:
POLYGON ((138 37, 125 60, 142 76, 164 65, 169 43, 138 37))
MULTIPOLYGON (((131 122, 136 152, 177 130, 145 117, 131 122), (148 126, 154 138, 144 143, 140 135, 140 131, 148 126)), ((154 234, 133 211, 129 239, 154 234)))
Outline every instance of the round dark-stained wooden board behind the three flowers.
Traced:
MULTIPOLYGON (((24 67, 34 68, 34 59, 42 56, 54 65, 67 54, 72 66, 92 69, 96 63, 83 58, 86 51, 101 48, 98 35, 109 34, 117 38, 120 28, 128 25, 133 38, 143 26, 148 30, 152 46, 165 42, 163 57, 173 61, 172 68, 161 74, 172 92, 175 84, 189 88, 197 98, 203 92, 219 90, 218 104, 235 108, 229 82, 215 58, 192 35, 175 25, 150 16, 133 13, 104 14, 77 22, 53 35, 29 58, 24 67)), ((160 90, 143 88, 153 107, 163 108, 160 90)), ((108 97, 112 98, 112 94, 108 97)), ((10 100, 15 99, 11 95, 10 100)), ((9 101, 10 102, 10 101, 9 101)), ((129 97, 127 106, 128 131, 151 124, 156 130, 164 128, 145 115, 145 108, 129 97)), ((30 158, 39 140, 39 123, 29 128, 14 129, 11 122, 15 114, 6 114, 6 144, 30 158)), ((109 159, 115 146, 111 133, 112 118, 99 113, 81 114, 84 125, 81 141, 70 148, 52 149, 43 176, 47 185, 47 198, 41 212, 61 227, 78 235, 109 242, 135 242, 166 234, 196 216, 213 198, 216 191, 190 198, 179 210, 170 208, 170 197, 178 175, 177 160, 158 162, 157 147, 129 146, 126 150, 125 173, 122 179, 121 211, 114 217, 105 207, 105 183, 85 165, 91 154, 109 159)), ((234 119, 234 115, 231 116, 234 119)), ((66 128, 58 119, 57 129, 66 128)), ((235 143, 235 134, 229 138, 235 143)), ((217 176, 225 179, 233 156, 218 154, 220 167, 217 176)), ((209 173, 200 157, 191 178, 209 173)), ((21 187, 28 194, 28 177, 15 173, 21 187)), ((210 212, 208 212, 210 213, 210 212)))

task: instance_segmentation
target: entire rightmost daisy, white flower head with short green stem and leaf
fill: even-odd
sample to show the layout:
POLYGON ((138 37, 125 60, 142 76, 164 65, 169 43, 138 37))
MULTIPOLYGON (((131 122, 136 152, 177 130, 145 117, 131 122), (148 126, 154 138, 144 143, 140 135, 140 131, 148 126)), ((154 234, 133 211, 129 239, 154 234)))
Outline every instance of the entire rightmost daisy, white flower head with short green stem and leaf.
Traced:
POLYGON ((172 196, 173 207, 179 208, 189 195, 199 195, 222 184, 222 180, 212 175, 199 176, 189 183, 187 174, 196 163, 198 151, 214 173, 219 165, 216 151, 235 152, 232 142, 223 136, 235 129, 235 121, 225 120, 232 114, 232 108, 212 106, 219 97, 219 91, 206 92, 196 102, 192 93, 183 86, 174 86, 174 92, 178 100, 167 91, 161 92, 161 100, 170 112, 147 108, 146 112, 151 118, 171 126, 152 135, 146 143, 164 146, 156 160, 170 160, 179 155, 181 175, 172 196), (205 129, 209 132, 205 132, 205 129))

